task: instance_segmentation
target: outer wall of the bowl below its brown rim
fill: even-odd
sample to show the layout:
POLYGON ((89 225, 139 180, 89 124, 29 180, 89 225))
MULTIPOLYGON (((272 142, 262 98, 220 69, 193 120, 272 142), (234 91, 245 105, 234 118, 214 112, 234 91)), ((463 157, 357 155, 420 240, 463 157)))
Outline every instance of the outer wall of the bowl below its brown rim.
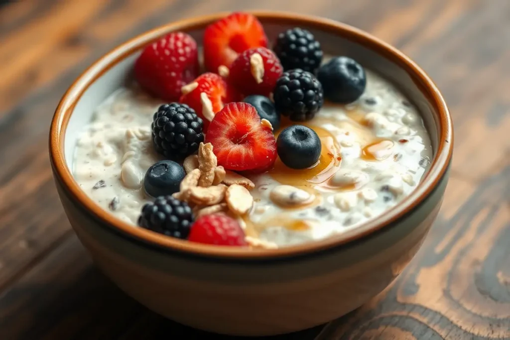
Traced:
POLYGON ((243 262, 188 257, 119 236, 57 179, 69 221, 97 266, 161 315, 231 335, 274 335, 334 320, 382 292, 409 263, 441 205, 447 178, 405 219, 326 253, 243 262))

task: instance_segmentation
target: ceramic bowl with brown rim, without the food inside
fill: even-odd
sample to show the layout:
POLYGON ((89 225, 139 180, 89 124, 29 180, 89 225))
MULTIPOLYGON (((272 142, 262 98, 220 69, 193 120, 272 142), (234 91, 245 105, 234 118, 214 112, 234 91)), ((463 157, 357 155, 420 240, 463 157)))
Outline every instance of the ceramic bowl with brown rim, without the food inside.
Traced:
POLYGON ((290 13, 255 13, 271 41, 310 30, 325 53, 347 55, 396 84, 419 108, 433 160, 421 185, 378 218, 338 236, 277 250, 213 247, 129 225, 102 210, 72 176, 73 148, 94 108, 131 77, 141 49, 171 31, 200 44, 225 13, 144 33, 90 66, 65 93, 50 130, 50 159, 69 221, 121 290, 177 322, 218 333, 270 335, 316 326, 384 290, 413 258, 435 220, 448 179, 452 125, 429 77, 400 51, 348 25, 290 13))

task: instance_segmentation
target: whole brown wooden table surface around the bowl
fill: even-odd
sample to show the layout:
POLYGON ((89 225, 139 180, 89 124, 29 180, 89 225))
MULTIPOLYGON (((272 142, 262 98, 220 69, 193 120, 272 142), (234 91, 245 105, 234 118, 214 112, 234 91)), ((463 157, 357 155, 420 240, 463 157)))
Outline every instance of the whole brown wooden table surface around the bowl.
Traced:
MULTIPOLYGON (((58 199, 47 133, 72 80, 113 46, 249 3, 22 0, 0 8, 0 339, 180 339, 183 329, 186 338, 210 338, 146 310, 92 265, 58 199)), ((437 82, 455 124, 447 193, 420 252, 386 292, 319 338, 510 338, 510 1, 256 7, 326 16, 392 43, 437 82)), ((314 339, 321 329, 277 338, 314 339)))

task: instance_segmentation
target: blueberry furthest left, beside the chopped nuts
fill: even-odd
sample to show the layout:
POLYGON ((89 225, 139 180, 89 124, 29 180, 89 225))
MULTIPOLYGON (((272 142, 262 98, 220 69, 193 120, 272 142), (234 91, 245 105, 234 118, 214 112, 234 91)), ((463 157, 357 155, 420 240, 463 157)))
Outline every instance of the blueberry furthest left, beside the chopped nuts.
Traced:
POLYGON ((176 193, 185 175, 183 167, 173 161, 152 164, 143 179, 145 192, 152 197, 176 193))

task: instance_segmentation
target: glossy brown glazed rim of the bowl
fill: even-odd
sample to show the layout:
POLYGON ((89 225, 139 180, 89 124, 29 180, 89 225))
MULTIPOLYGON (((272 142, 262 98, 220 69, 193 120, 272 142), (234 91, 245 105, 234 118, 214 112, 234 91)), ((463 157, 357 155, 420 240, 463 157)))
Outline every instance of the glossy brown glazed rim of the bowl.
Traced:
POLYGON ((85 90, 100 77, 105 71, 115 66, 119 61, 135 53, 151 40, 154 40, 170 31, 189 31, 204 28, 207 24, 225 16, 228 13, 217 13, 212 15, 200 16, 191 19, 184 19, 163 25, 154 30, 139 35, 117 48, 113 49, 96 61, 92 66, 85 70, 82 75, 71 85, 62 97, 50 128, 50 159, 54 167, 54 172, 66 191, 66 194, 75 204, 82 206, 85 210, 100 224, 107 228, 113 228, 114 231, 124 234, 124 236, 142 241, 145 246, 156 246, 160 249, 184 252, 189 255, 198 255, 199 257, 212 257, 237 260, 270 259, 281 257, 294 257, 305 253, 316 253, 367 237, 375 231, 381 230, 395 223, 407 213, 410 213, 418 206, 439 184, 440 180, 448 168, 452 149, 453 149, 453 130, 452 122, 446 103, 440 94, 436 85, 429 79, 427 74, 418 67, 409 57, 402 54, 391 45, 349 25, 320 17, 298 15, 285 12, 253 12, 263 22, 286 23, 289 25, 306 25, 317 30, 340 35, 345 39, 362 44, 379 55, 393 61, 405 70, 413 79, 420 91, 428 99, 433 109, 439 114, 436 117, 436 124, 439 126, 439 144, 437 153, 431 163, 430 170, 422 179, 421 184, 401 203, 391 208, 386 213, 370 220, 363 225, 333 237, 324 240, 314 241, 296 246, 285 247, 281 249, 248 249, 238 247, 217 247, 187 242, 179 239, 173 239, 152 232, 143 228, 135 228, 97 205, 87 194, 80 189, 78 183, 73 179, 70 170, 67 168, 64 157, 64 137, 69 118, 73 112, 74 106, 85 92, 85 90))

